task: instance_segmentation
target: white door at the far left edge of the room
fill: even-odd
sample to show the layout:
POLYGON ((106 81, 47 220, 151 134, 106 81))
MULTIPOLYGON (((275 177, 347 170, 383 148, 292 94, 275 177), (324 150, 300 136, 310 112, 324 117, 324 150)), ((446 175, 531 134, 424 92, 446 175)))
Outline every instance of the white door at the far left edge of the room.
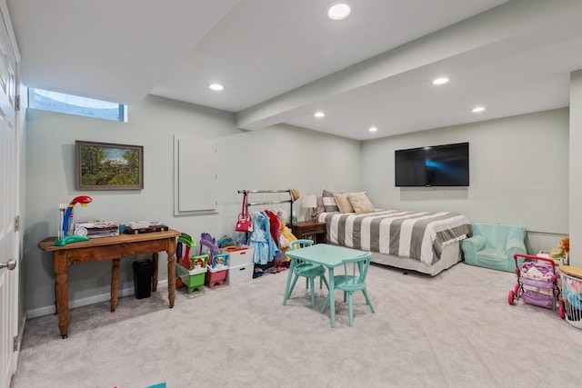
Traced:
MULTIPOLYGON (((15 113, 17 49, 6 27, 9 20, 2 1, 0 7, 0 387, 10 385, 15 372, 14 338, 18 333, 18 261, 15 216, 17 199, 18 135, 15 113)), ((10 25, 8 23, 7 25, 10 25)))

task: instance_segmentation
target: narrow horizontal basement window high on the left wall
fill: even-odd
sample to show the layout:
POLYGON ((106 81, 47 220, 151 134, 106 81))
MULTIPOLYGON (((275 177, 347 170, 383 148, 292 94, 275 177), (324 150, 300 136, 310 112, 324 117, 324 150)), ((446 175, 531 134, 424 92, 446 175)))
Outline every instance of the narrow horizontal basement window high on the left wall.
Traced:
POLYGON ((78 95, 28 88, 28 107, 63 114, 77 114, 113 121, 127 121, 127 106, 78 95))

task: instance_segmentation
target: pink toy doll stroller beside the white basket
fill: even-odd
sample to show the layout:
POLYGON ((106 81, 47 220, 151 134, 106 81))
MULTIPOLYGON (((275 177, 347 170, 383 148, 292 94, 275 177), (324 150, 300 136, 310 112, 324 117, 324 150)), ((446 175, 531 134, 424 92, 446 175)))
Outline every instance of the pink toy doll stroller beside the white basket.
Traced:
POLYGON ((556 310, 564 319, 564 303, 560 298, 560 289, 557 286, 556 263, 552 259, 533 256, 531 254, 514 254, 516 261, 517 284, 507 295, 507 303, 513 304, 520 297, 527 304, 556 310), (517 259, 527 259, 519 268, 517 259), (545 263, 544 263, 545 262, 545 263))

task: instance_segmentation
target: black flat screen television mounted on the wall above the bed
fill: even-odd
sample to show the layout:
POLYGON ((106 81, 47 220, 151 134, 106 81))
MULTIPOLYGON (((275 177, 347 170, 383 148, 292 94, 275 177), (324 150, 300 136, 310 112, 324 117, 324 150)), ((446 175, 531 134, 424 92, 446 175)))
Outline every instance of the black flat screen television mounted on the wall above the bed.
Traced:
POLYGON ((469 144, 396 150, 396 187, 468 186, 469 144))

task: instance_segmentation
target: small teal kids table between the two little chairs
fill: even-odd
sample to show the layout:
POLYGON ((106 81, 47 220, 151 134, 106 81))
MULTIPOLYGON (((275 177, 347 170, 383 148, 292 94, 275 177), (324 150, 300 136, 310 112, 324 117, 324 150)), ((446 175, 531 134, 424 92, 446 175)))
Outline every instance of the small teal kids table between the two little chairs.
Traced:
POLYGON ((291 263, 289 264, 289 271, 287 274, 287 283, 285 288, 285 295, 283 296, 283 305, 287 303, 287 299, 290 296, 289 286, 291 285, 291 278, 293 277, 293 272, 297 260, 323 265, 327 268, 329 273, 329 308, 331 312, 331 327, 336 327, 334 268, 343 264, 346 260, 360 257, 364 258, 369 255, 371 255, 369 252, 358 251, 356 249, 330 244, 315 244, 306 246, 305 248, 296 249, 294 251, 287 251, 286 256, 291 259, 291 263))

